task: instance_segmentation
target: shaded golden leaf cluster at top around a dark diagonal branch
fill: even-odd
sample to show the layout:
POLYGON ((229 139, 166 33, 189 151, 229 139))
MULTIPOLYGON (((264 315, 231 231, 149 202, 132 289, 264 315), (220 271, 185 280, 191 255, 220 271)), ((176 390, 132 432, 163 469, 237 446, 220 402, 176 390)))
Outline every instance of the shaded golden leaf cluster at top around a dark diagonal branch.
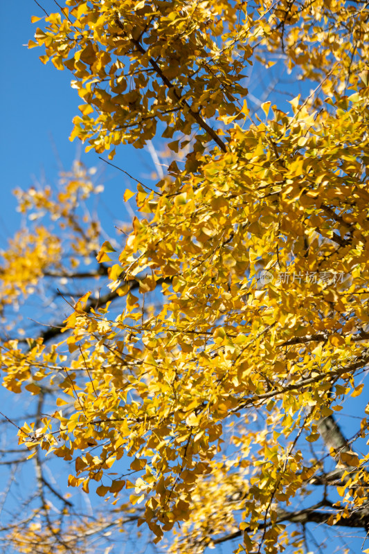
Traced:
MULTIPOLYGON (((216 112, 221 120, 237 113, 235 96, 247 92, 241 71, 252 51, 240 42, 234 55, 240 34, 236 7, 179 2, 174 8, 131 0, 67 4, 63 15, 46 17, 46 30, 37 29, 29 46, 46 46, 42 60, 75 75, 73 86, 85 103, 71 139, 89 139, 97 152, 121 142, 141 148, 156 134, 157 120, 163 136, 171 138, 177 131, 189 135, 194 123, 211 130, 204 118, 216 112)), ((197 136, 199 152, 208 140, 197 136)), ((178 141, 172 148, 178 151, 178 141)))

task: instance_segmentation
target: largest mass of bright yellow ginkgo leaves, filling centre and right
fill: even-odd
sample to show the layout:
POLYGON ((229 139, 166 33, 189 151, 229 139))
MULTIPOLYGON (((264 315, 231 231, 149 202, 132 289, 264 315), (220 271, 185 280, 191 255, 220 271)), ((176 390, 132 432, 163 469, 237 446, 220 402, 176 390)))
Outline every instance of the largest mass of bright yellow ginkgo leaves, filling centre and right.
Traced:
MULTIPOLYGON (((244 452, 260 446, 244 511, 256 530, 266 510, 273 514, 271 497, 287 501, 302 485, 296 474, 308 461, 285 439, 303 426, 316 440, 316 418, 332 413, 332 386, 342 377, 353 383, 362 366, 356 360, 368 342, 357 334, 368 322, 368 89, 331 105, 334 115, 310 116, 297 101, 294 116, 273 108, 268 126, 236 126, 228 152, 205 159, 200 175, 168 181, 160 195, 138 188, 141 211, 153 215, 134 220, 110 273, 115 281, 125 275, 118 279, 125 309, 115 320, 106 310, 87 314, 86 295, 66 321, 66 343, 70 352, 83 349, 89 379, 76 376, 84 358, 75 357, 60 384, 74 412, 55 412, 62 445, 51 449, 70 460, 103 444, 99 454, 78 458, 78 477, 69 481, 88 492, 91 479, 102 480, 98 494, 114 493, 105 473, 133 456, 131 469, 141 476, 125 486, 134 488, 133 504, 146 501, 145 520, 158 537, 188 520, 203 494, 201 479, 215 479, 226 418, 266 404, 269 434, 232 438, 244 452), (353 132, 348 151, 341 145, 353 132), (348 277, 260 288, 259 269, 288 271, 291 280, 314 271, 348 277), (145 272, 141 294, 159 279, 166 283, 161 311, 143 321, 140 294, 129 292, 129 282, 145 272)), ((105 244, 100 256, 111 250, 105 244)), ((228 526, 222 510, 217 521, 221 533, 228 526)), ((264 536, 270 552, 276 533, 282 528, 264 536)))

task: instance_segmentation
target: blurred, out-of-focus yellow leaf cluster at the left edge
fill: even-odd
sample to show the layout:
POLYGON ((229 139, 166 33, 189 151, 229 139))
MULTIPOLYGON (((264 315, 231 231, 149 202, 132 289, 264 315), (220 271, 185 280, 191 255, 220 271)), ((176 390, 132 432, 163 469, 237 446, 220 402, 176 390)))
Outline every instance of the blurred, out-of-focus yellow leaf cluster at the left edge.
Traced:
POLYGON ((76 162, 70 172, 63 172, 60 193, 53 197, 50 187, 15 190, 18 211, 26 214, 33 229, 24 226, 9 240, 8 249, 0 253, 0 304, 15 306, 19 300, 37 291, 44 274, 53 271, 68 275, 81 260, 90 262, 91 253, 99 248, 100 224, 93 217, 81 217, 77 210, 91 193, 100 193, 87 169, 76 162), (40 220, 44 218, 41 223, 40 220), (50 221, 58 221, 59 229, 48 229, 50 221), (62 253, 67 241, 74 256, 66 260, 62 253))

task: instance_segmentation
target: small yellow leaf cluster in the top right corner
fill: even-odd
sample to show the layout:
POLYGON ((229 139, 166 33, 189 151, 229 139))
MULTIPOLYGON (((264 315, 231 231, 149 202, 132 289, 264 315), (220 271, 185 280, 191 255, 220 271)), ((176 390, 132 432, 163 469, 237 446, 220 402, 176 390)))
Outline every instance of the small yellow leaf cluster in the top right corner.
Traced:
POLYGON ((268 50, 282 47, 289 69, 299 66, 300 79, 324 79, 325 93, 332 87, 343 93, 349 84, 358 83, 361 71, 368 69, 366 3, 318 0, 291 4, 282 0, 268 23, 268 50))

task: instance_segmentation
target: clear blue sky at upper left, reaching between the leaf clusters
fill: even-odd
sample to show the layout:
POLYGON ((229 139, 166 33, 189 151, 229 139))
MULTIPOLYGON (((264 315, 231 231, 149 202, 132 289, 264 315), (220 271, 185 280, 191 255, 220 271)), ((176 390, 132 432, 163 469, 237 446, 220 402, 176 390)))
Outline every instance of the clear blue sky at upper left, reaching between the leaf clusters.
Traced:
MULTIPOLYGON (((40 3, 49 13, 57 11, 53 0, 40 3)), ((42 21, 31 24, 30 17, 42 17, 44 13, 33 0, 11 1, 1 7, 0 248, 6 247, 7 237, 19 228, 20 217, 15 212, 11 191, 16 187, 28 188, 34 179, 55 181, 60 168, 58 158, 69 169, 75 157, 82 154, 87 166, 104 171, 101 181, 105 183, 105 204, 114 207, 115 217, 127 220, 122 195, 125 188, 132 188, 132 182, 106 166, 95 152, 84 154, 84 146, 78 140, 69 141, 73 116, 80 113, 78 105, 82 104, 70 87, 73 75, 66 70, 57 71, 51 62, 42 64, 39 61, 39 55, 44 53, 42 48, 28 50, 24 46, 33 39, 37 26, 42 26, 42 21)), ((120 148, 114 163, 138 178, 154 170, 148 152, 131 146, 120 148)))

